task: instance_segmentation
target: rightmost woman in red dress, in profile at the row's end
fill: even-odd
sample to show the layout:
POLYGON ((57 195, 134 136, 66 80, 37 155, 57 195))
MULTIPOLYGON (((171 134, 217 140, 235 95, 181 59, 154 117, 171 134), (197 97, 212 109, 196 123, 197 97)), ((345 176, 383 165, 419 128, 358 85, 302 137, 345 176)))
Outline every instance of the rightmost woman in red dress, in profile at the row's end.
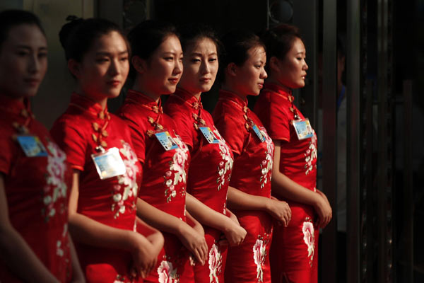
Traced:
POLYGON ((331 219, 325 195, 316 189, 317 136, 293 104, 291 90, 305 86, 306 50, 297 28, 281 25, 264 36, 269 79, 255 105, 276 146, 273 195, 288 200, 292 219, 274 230, 273 282, 317 282, 319 228, 331 219))

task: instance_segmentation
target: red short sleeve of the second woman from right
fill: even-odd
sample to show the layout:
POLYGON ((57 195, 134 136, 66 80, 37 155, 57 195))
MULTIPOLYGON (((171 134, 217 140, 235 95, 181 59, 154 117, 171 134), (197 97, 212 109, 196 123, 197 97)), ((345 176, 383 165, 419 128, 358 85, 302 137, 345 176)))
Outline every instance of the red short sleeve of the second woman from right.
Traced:
POLYGON ((234 117, 225 115, 215 121, 215 127, 230 146, 232 152, 240 156, 245 143, 245 125, 234 117))

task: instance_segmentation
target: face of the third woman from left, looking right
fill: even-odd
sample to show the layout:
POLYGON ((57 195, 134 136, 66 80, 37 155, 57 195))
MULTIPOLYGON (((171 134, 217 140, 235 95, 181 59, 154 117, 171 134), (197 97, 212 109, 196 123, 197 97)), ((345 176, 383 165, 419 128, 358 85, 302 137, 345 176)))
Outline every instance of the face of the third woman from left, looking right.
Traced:
POLYGON ((182 75, 182 48, 178 37, 170 35, 156 48, 145 63, 143 91, 146 95, 160 96, 175 93, 182 75))

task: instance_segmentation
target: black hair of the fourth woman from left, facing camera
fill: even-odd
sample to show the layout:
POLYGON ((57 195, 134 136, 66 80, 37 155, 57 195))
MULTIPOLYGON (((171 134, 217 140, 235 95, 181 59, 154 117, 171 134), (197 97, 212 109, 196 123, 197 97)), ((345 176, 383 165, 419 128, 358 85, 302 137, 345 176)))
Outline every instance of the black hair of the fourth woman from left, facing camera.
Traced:
POLYGON ((178 30, 181 35, 180 40, 183 51, 186 50, 189 45, 196 42, 196 40, 208 38, 215 44, 218 57, 220 56, 220 52, 223 49, 222 43, 220 42, 215 30, 213 30, 213 28, 209 25, 204 23, 191 23, 188 25, 182 25, 178 30))

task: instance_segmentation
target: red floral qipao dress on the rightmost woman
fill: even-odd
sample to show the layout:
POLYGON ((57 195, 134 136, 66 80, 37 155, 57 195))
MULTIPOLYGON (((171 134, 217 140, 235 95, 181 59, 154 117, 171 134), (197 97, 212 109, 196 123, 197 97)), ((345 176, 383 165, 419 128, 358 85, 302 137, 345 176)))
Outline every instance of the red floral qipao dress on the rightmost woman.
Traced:
MULTIPOLYGON (((293 104, 291 92, 273 83, 261 91, 255 112, 269 135, 281 141, 280 171, 291 180, 316 191, 317 135, 298 139, 293 120, 305 119, 293 104)), ((312 130, 313 131, 313 130, 312 130)), ((317 282, 317 215, 310 205, 288 201, 292 218, 288 227, 275 226, 271 248, 273 281, 317 282)))

